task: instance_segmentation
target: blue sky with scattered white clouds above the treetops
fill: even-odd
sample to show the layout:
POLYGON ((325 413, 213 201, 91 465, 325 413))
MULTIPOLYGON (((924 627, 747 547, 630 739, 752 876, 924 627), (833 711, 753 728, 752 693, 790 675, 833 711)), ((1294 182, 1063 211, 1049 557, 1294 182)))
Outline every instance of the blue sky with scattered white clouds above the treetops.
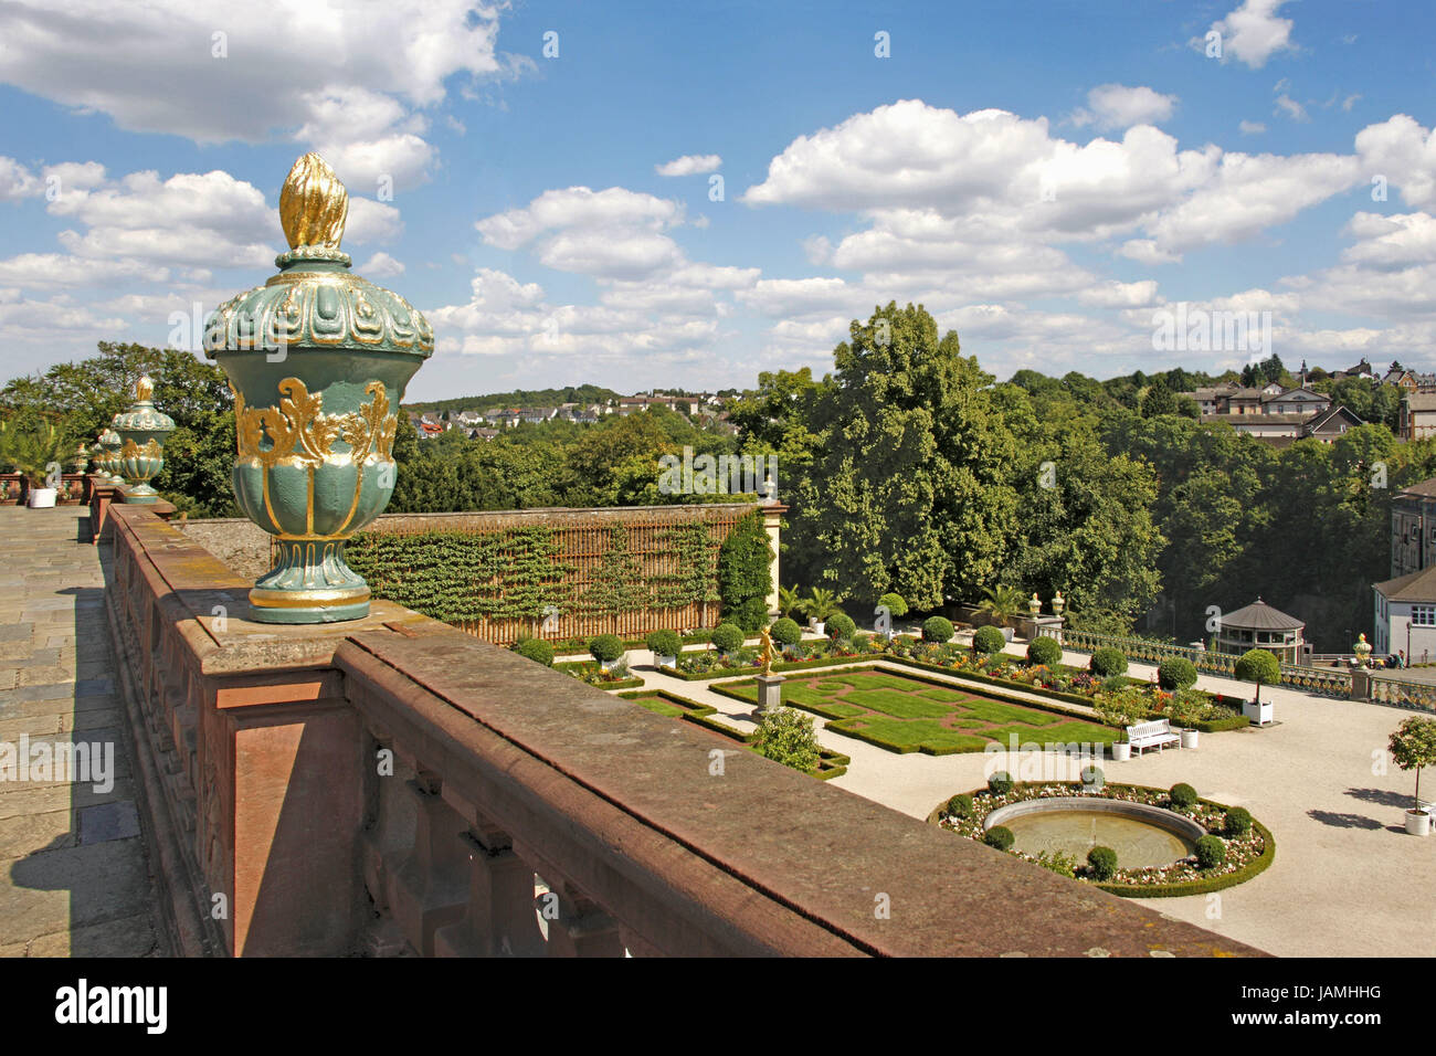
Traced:
POLYGON ((1153 351, 1178 302, 1271 312, 1291 365, 1432 369, 1433 23, 1380 0, 19 0, 0 372, 185 343, 194 305, 273 272, 307 149, 349 187, 356 270, 435 326, 411 399, 821 372, 889 299, 998 376, 1251 358, 1153 351))

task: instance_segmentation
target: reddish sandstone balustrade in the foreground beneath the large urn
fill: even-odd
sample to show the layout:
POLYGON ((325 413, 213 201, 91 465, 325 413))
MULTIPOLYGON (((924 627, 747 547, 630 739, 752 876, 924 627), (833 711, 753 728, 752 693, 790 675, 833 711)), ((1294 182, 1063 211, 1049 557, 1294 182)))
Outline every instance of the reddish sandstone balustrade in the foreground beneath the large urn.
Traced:
POLYGON ((151 509, 106 537, 174 953, 1256 953, 386 602, 250 622, 151 509))

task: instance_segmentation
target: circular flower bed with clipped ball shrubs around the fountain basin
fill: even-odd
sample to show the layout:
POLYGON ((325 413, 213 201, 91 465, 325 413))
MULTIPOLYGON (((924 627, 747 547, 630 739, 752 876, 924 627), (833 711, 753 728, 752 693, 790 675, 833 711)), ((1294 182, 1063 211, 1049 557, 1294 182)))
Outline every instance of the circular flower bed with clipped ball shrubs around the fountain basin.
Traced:
MULTIPOLYGON (((1166 789, 1153 789, 1144 784, 1106 784, 1100 792, 1090 792, 1080 783, 1035 782, 1014 784, 1010 792, 1002 795, 995 795, 988 789, 978 789, 968 793, 968 796, 972 799, 972 812, 969 815, 952 813, 949 807, 956 799, 955 796, 954 800, 948 800, 948 803, 933 810, 928 816, 928 820, 959 836, 981 840, 985 835, 982 826, 987 816, 998 807, 1031 799, 1084 800, 1101 796, 1104 799, 1123 799, 1129 803, 1146 803, 1173 810, 1183 818, 1192 819, 1206 829, 1209 835, 1218 836, 1225 843, 1226 859, 1208 869, 1198 865, 1196 855, 1180 858, 1169 865, 1144 869, 1126 869, 1122 868, 1122 862, 1119 861, 1117 871, 1111 879, 1097 881, 1093 878, 1086 862, 1077 863, 1077 879, 1126 898, 1175 898, 1221 891, 1222 888, 1249 881, 1265 871, 1277 855, 1277 842, 1261 822, 1254 819, 1251 829, 1245 835, 1228 836, 1225 833, 1226 813, 1232 807, 1209 799, 1198 799, 1192 807, 1183 810, 1172 803, 1172 797, 1166 789)), ((1008 853, 1037 865, 1050 865, 1047 861, 1038 861, 1038 858, 1018 851, 1008 851, 1008 853)))

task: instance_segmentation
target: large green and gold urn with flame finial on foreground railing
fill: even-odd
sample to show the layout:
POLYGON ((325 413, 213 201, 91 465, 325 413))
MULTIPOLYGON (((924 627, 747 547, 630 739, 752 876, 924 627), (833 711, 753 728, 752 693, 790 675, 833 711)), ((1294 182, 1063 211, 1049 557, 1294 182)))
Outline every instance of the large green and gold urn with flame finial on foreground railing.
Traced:
POLYGON ((349 195, 323 158, 294 162, 279 210, 290 246, 279 274, 221 305, 204 336, 234 391, 236 499, 279 540, 250 603, 267 624, 359 619, 369 585, 345 545, 393 494, 399 401, 434 330, 398 293, 350 274, 339 250, 349 195))

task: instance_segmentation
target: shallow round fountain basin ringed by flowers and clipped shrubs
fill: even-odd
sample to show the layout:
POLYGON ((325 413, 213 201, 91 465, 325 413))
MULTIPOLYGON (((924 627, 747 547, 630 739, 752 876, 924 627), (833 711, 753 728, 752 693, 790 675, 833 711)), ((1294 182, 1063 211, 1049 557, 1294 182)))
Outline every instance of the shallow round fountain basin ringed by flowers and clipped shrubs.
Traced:
POLYGON ((1111 848, 1123 868, 1169 865, 1190 855, 1206 829, 1172 810, 1100 796, 1028 799, 998 807, 984 830, 1007 826, 1012 849, 1027 855, 1055 851, 1086 861, 1094 846, 1111 848))

